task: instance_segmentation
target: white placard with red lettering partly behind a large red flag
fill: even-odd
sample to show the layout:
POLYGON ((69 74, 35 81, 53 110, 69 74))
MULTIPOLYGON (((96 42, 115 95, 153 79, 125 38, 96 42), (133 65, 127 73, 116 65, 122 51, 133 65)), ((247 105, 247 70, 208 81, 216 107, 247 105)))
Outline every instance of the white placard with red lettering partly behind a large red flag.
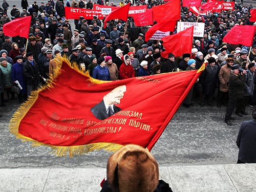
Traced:
POLYGON ((177 32, 183 31, 189 27, 194 26, 193 37, 203 37, 204 36, 204 23, 194 23, 194 22, 178 22, 177 32), (181 28, 181 30, 180 30, 181 28))

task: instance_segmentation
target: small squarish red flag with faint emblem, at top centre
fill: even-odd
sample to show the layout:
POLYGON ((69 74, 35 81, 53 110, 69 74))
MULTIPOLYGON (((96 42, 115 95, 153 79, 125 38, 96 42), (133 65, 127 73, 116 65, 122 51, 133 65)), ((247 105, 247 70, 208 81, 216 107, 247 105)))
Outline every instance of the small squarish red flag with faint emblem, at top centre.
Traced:
POLYGON ((145 13, 134 14, 133 19, 136 26, 145 26, 145 25, 154 24, 152 9, 146 10, 145 13))

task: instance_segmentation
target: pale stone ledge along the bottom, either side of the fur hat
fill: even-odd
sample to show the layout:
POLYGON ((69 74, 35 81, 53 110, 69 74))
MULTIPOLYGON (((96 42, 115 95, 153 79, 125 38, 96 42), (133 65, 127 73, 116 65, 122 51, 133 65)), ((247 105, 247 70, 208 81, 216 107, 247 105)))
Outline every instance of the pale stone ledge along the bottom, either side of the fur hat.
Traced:
MULTIPOLYGON (((168 166, 159 171, 174 192, 256 191, 256 164, 168 166)), ((0 190, 96 192, 105 172, 104 168, 1 169, 0 190)))

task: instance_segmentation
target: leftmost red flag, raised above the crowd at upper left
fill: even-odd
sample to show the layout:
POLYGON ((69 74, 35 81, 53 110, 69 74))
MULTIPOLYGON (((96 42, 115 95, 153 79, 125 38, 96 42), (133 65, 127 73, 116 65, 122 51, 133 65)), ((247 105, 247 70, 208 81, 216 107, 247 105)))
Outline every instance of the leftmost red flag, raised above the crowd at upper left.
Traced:
POLYGON ((29 37, 29 29, 32 16, 15 18, 11 22, 4 24, 3 31, 6 36, 29 37))

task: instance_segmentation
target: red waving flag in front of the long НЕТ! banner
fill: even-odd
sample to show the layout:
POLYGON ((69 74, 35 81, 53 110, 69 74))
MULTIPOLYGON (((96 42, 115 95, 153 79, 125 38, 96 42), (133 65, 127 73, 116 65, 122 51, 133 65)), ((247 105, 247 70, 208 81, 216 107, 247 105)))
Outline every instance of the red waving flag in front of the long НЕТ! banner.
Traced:
POLYGON ((130 8, 130 4, 127 4, 111 12, 108 16, 105 17, 104 28, 106 27, 106 22, 108 22, 108 20, 111 20, 111 19, 118 18, 126 22, 128 18, 129 8, 130 8))

